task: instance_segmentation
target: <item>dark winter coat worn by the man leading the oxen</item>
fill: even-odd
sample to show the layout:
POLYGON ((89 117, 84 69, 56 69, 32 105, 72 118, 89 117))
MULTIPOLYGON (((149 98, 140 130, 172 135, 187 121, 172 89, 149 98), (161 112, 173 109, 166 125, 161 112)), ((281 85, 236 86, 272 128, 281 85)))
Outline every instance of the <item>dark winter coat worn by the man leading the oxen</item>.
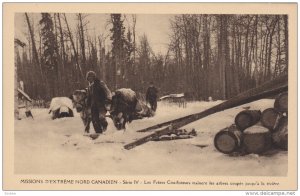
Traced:
POLYGON ((103 81, 95 79, 88 87, 88 102, 91 107, 103 108, 111 101, 111 92, 103 81))

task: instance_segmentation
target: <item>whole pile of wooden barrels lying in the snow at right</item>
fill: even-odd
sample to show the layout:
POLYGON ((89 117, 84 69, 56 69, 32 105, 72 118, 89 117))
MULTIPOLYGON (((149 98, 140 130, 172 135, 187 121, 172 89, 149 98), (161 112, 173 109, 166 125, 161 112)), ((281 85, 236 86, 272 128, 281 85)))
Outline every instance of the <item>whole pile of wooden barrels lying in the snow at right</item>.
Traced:
POLYGON ((273 148, 287 150, 288 93, 276 97, 274 108, 238 113, 235 124, 216 134, 214 145, 225 154, 263 154, 273 148))

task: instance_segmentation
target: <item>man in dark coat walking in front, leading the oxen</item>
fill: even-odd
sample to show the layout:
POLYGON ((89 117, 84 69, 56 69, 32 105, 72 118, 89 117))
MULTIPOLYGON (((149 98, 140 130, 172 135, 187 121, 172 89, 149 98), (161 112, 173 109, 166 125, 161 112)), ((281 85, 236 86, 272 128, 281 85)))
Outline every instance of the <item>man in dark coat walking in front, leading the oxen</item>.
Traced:
POLYGON ((96 133, 102 133, 107 128, 105 114, 106 106, 111 102, 111 92, 103 81, 96 77, 96 73, 89 71, 86 74, 88 86, 88 106, 91 107, 92 123, 96 133))

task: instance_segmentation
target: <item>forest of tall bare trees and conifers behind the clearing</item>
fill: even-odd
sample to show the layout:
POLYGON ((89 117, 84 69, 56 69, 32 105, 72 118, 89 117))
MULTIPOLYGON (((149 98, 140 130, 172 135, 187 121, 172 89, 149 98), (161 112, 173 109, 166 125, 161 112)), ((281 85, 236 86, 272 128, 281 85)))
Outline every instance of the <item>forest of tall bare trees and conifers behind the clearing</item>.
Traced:
POLYGON ((185 93, 190 100, 229 99, 288 72, 287 15, 172 15, 166 53, 152 49, 147 32, 137 33, 138 15, 107 14, 105 35, 89 14, 72 16, 22 13, 16 76, 33 99, 85 88, 89 70, 112 91, 142 96, 153 82, 160 96, 185 93))

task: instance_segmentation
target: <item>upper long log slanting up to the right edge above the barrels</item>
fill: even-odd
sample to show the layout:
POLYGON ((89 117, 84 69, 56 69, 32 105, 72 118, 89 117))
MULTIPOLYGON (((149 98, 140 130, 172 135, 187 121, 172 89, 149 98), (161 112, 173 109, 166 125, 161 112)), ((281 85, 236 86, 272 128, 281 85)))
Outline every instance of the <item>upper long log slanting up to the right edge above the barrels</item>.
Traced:
POLYGON ((154 126, 138 130, 138 132, 146 132, 153 129, 159 129, 164 126, 169 126, 169 125, 172 125, 174 129, 177 129, 191 122, 209 116, 211 114, 221 112, 223 110, 230 109, 242 104, 250 103, 252 101, 274 96, 279 93, 285 92, 287 90, 288 90, 288 76, 287 75, 279 76, 272 81, 266 82, 259 87, 240 93, 237 96, 221 104, 218 104, 212 108, 204 110, 200 113, 191 114, 175 120, 170 120, 164 123, 156 124, 154 126))

